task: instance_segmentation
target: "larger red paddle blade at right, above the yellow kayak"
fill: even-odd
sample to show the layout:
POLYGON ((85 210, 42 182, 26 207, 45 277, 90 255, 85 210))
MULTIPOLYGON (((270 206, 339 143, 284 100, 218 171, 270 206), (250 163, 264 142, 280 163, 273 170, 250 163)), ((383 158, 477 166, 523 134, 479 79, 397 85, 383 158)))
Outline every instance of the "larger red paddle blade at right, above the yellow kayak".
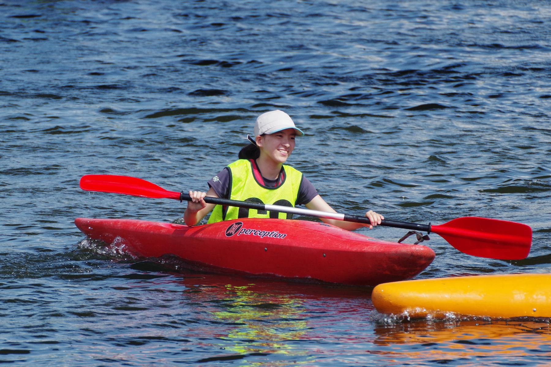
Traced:
POLYGON ((480 217, 462 217, 431 231, 456 249, 480 258, 525 259, 532 245, 532 228, 526 224, 480 217))

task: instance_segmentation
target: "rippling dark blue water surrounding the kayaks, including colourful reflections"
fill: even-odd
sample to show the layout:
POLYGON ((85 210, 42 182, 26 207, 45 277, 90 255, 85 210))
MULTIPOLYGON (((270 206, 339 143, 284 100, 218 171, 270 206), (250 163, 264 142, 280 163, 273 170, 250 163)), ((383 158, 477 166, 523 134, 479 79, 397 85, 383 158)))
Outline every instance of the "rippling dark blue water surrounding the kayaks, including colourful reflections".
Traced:
POLYGON ((548 272, 550 17, 549 1, 3 0, 0 361, 548 365, 546 323, 385 321, 370 289, 112 260, 73 220, 177 220, 178 202, 78 180, 206 189, 280 108, 306 133, 289 163, 337 210, 534 229, 515 261, 431 235, 419 277, 548 272))

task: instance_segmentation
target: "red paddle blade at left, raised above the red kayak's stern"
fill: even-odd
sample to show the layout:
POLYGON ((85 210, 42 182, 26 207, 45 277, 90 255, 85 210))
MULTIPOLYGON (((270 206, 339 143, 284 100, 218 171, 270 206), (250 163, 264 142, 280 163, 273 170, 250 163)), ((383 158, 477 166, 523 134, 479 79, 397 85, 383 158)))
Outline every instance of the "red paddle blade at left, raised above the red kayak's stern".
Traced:
POLYGON ((180 193, 176 191, 168 191, 141 178, 129 176, 87 174, 80 178, 80 188, 88 191, 101 191, 103 193, 180 200, 180 193))

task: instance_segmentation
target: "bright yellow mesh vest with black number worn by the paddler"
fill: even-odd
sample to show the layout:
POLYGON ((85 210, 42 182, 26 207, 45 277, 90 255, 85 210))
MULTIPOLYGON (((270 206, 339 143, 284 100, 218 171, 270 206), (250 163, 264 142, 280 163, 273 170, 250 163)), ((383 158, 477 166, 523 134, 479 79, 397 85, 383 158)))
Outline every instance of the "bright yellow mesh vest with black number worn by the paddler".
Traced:
MULTIPOLYGON (((278 188, 266 188, 261 185, 262 178, 260 177, 260 172, 253 168, 254 164, 250 160, 238 160, 228 165, 230 169, 230 192, 228 199, 294 207, 299 195, 302 173, 293 167, 283 165, 283 183, 278 188)), ((290 219, 292 217, 292 214, 286 213, 217 205, 214 207, 208 222, 222 222, 237 218, 290 219)))

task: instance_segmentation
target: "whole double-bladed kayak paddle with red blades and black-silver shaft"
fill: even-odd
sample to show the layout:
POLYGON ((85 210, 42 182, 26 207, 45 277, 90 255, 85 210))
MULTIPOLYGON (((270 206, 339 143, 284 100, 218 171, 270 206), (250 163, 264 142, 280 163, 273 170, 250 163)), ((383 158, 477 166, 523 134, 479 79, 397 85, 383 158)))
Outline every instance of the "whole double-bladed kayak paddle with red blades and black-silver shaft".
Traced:
MULTIPOLYGON (((104 193, 166 198, 191 201, 190 195, 165 190, 153 183, 136 177, 110 174, 87 174, 80 179, 80 188, 104 193)), ((368 218, 358 215, 331 213, 297 207, 261 204, 206 196, 209 204, 237 206, 270 212, 291 213, 310 217, 370 224, 368 218)), ((382 220, 381 226, 413 229, 437 233, 457 250, 481 258, 519 260, 525 259, 532 245, 532 228, 526 224, 481 217, 461 217, 439 226, 382 220)))

